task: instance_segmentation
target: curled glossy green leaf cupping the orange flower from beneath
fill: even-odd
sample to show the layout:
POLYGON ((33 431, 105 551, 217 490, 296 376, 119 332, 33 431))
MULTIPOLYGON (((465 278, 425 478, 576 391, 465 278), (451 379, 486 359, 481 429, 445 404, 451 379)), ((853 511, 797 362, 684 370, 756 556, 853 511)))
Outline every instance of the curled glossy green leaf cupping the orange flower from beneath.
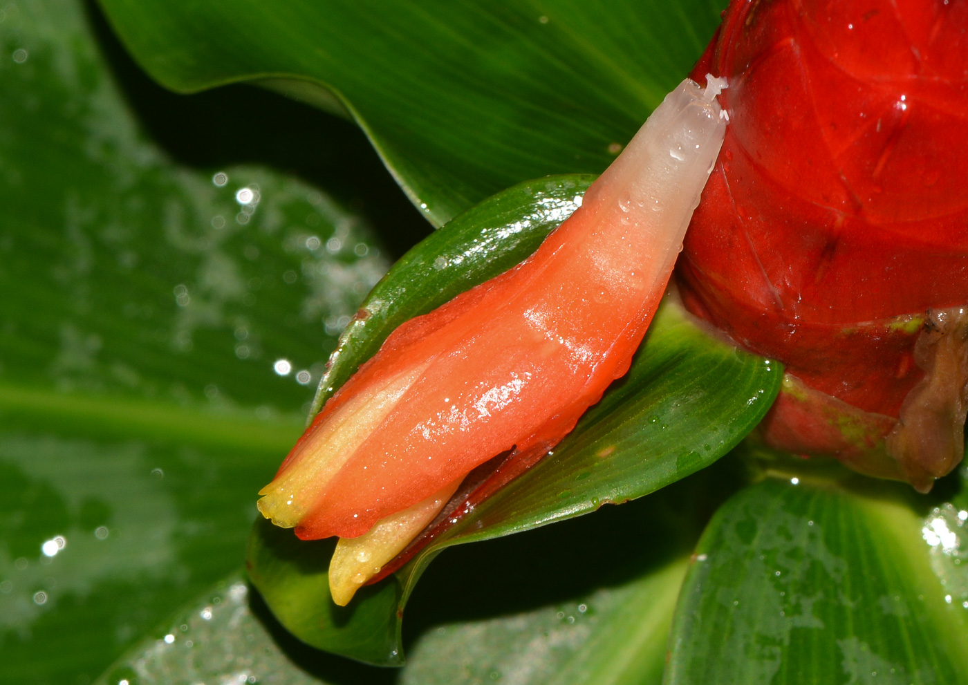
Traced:
MULTIPOLYGON (((364 303, 368 314, 357 317, 344 334, 330 372, 333 380, 324 379, 321 398, 337 389, 400 322, 534 250, 544 234, 570 216, 577 206, 575 194, 589 183, 587 177, 559 176, 521 184, 447 223, 411 250, 364 303), (496 255, 494 260, 478 256, 482 244, 496 255)), ((675 301, 666 301, 628 374, 582 417, 553 456, 437 534, 396 581, 375 586, 355 611, 352 604, 348 610, 331 607, 331 544, 296 543, 291 531, 263 521, 257 522, 250 542, 250 578, 301 640, 361 661, 402 663, 403 608, 439 551, 641 497, 708 466, 759 423, 781 376, 777 364, 714 340, 675 301), (367 631, 373 640, 350 637, 367 631)))

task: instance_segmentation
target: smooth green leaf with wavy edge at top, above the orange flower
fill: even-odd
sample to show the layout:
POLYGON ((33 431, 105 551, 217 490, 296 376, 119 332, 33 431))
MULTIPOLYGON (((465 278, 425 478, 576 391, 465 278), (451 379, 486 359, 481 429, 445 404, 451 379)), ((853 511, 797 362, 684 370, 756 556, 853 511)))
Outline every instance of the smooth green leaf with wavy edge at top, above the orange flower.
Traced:
POLYGON ((724 7, 100 2, 136 60, 169 88, 251 80, 349 112, 437 224, 525 179, 601 172, 689 71, 724 7))

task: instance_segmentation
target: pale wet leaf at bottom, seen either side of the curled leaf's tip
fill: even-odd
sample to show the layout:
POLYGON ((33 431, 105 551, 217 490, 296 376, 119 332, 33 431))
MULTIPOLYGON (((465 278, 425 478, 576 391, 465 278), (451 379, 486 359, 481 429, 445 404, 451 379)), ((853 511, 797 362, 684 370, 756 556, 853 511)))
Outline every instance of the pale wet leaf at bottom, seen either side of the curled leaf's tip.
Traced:
MULTIPOLYGON (((458 685, 515 672, 522 685, 657 685, 686 560, 675 557, 617 586, 552 605, 426 630, 413 644, 399 682, 458 685)), ((245 673, 257 682, 326 683, 334 682, 334 670, 352 672, 356 682, 386 679, 330 654, 300 649, 265 614, 259 598, 250 600, 247 593, 238 576, 220 582, 136 644, 99 682, 223 682, 245 673)), ((310 593, 303 601, 313 599, 310 593)), ((359 637, 366 640, 365 634, 359 637)))

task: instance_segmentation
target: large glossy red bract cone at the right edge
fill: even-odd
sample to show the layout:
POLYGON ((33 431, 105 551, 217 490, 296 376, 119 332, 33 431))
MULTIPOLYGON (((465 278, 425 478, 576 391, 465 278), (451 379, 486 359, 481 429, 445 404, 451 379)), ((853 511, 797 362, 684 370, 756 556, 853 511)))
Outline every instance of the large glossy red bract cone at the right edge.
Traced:
POLYGON ((729 80, 731 125, 687 306, 787 365, 773 444, 920 490, 963 450, 966 30, 963 2, 741 0, 695 72, 729 80))

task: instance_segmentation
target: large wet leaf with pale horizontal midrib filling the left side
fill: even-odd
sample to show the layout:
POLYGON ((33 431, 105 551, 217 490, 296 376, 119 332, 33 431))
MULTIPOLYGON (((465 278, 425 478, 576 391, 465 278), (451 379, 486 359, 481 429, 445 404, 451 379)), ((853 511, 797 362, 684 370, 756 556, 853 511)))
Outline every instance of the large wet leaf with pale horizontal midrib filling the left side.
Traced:
POLYGON ((98 33, 79 0, 0 10, 3 683, 87 682, 239 566, 255 493, 387 264, 359 214, 242 164, 372 176, 362 134, 256 89, 173 96, 98 33), (304 164, 320 121, 349 142, 304 164), (341 148, 354 166, 320 168, 341 148))

